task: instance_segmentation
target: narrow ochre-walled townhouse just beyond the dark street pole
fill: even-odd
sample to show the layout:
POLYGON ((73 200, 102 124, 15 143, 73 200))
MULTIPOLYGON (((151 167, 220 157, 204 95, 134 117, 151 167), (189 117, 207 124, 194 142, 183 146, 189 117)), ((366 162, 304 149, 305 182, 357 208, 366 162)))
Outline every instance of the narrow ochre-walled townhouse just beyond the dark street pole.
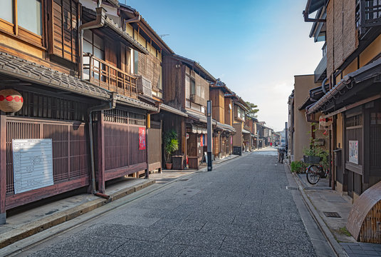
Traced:
POLYGON ((216 121, 213 135, 213 154, 215 158, 223 158, 231 154, 231 141, 235 129, 229 121, 225 121, 231 109, 225 104, 225 94, 231 94, 230 89, 217 79, 209 86, 209 99, 212 101, 212 118, 216 121), (227 108, 227 110, 226 110, 227 108))

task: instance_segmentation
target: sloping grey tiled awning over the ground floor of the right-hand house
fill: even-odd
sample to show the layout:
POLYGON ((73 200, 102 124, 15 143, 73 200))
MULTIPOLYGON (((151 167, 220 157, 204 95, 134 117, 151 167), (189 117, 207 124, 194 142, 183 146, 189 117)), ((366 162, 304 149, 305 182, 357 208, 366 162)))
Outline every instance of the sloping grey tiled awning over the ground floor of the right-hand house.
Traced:
MULTIPOLYGON (((329 102, 334 101, 335 99, 338 99, 340 95, 345 94, 345 92, 340 92, 345 90, 346 88, 348 91, 351 89, 357 88, 357 84, 360 84, 363 81, 367 81, 368 79, 375 78, 377 76, 380 76, 381 74, 381 59, 378 59, 377 61, 373 61, 372 64, 367 64, 365 66, 362 66, 357 71, 354 71, 348 75, 346 75, 338 84, 336 84, 333 89, 327 92, 322 98, 320 98, 313 106, 310 106, 308 109, 308 114, 313 114, 315 112, 318 112, 320 109, 322 109, 325 104, 329 104, 329 102)), ((345 104, 345 103, 342 103, 345 104)), ((340 106, 335 106, 337 108, 340 108, 340 106)))

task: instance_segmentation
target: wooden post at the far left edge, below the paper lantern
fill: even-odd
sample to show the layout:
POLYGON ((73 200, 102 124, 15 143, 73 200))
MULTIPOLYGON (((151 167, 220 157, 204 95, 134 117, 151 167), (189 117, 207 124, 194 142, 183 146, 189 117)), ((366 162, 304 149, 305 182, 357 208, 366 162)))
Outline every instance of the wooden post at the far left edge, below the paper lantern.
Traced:
POLYGON ((0 224, 6 222, 6 116, 0 111, 0 224))

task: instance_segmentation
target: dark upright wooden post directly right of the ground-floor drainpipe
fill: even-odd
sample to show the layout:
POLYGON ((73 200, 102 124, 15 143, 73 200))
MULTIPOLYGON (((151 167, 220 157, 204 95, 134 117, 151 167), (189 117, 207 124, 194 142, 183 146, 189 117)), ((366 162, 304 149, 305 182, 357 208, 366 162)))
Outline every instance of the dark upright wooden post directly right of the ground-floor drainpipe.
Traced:
POLYGON ((103 111, 98 114, 97 126, 98 191, 105 193, 105 124, 103 111))

